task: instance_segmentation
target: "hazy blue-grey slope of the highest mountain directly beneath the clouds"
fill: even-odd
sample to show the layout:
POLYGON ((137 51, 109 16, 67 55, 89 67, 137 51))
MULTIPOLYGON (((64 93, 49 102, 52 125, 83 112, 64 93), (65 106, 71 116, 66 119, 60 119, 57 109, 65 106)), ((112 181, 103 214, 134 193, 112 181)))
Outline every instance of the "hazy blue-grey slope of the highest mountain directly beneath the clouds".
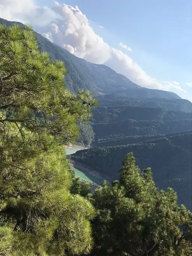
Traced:
MULTIPOLYGON (((0 19, 1 24, 12 26, 14 23, 4 19, 0 19)), ((140 87, 131 82, 125 76, 113 71, 104 65, 92 64, 84 59, 77 58, 62 47, 51 43, 49 40, 36 33, 37 41, 41 51, 46 51, 52 59, 62 60, 66 64, 68 75, 65 78, 66 87, 76 93, 78 89, 88 89, 94 96, 99 94, 110 94, 125 89, 133 90, 134 97, 158 97, 158 98, 180 98, 175 93, 160 90, 151 90, 140 87), (140 88, 142 88, 140 90, 140 88)), ((130 91, 132 92, 132 91, 130 91)))

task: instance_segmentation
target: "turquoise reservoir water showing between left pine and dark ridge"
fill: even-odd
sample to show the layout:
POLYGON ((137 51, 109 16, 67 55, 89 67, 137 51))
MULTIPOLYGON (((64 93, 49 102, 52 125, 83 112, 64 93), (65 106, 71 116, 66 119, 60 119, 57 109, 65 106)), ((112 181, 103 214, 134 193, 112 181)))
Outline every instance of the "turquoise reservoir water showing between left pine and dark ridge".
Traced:
MULTIPOLYGON (((71 155, 77 152, 78 150, 81 150, 80 147, 78 146, 73 146, 72 148, 66 148, 66 154, 71 155)), ((89 174, 87 171, 81 170, 81 169, 76 169, 75 167, 71 166, 71 169, 75 173, 75 177, 80 177, 81 180, 89 181, 89 182, 94 182, 98 185, 101 184, 103 180, 94 177, 93 175, 89 174)))

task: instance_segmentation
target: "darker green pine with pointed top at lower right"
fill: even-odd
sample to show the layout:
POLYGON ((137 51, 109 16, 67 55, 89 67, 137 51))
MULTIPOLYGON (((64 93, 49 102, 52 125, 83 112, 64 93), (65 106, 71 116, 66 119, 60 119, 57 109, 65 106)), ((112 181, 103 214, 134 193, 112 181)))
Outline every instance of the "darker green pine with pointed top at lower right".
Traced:
POLYGON ((92 256, 192 255, 192 213, 177 205, 177 195, 156 188, 150 168, 141 170, 129 153, 119 181, 103 182, 92 202, 95 246, 92 256))

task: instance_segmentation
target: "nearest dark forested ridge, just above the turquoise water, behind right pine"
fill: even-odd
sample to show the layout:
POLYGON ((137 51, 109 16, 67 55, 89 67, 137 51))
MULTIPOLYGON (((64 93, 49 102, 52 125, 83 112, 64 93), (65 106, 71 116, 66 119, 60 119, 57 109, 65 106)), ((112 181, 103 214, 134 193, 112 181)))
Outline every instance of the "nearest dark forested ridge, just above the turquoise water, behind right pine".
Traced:
POLYGON ((163 138, 136 144, 85 149, 73 154, 72 159, 116 180, 121 161, 128 152, 134 153, 136 164, 141 169, 152 168, 154 180, 160 188, 171 186, 178 194, 179 204, 191 209, 191 131, 167 134, 163 138))

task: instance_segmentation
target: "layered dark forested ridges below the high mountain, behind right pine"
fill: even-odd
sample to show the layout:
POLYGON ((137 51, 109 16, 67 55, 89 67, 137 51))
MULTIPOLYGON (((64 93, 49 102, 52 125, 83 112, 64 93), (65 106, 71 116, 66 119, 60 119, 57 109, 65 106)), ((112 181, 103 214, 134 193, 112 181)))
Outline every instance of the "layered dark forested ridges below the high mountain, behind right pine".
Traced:
POLYGON ((170 186, 177 192, 178 203, 191 209, 191 103, 118 94, 98 98, 101 103, 90 120, 94 141, 91 148, 72 154, 72 159, 117 180, 122 159, 133 152, 141 169, 152 168, 160 189, 170 186))

